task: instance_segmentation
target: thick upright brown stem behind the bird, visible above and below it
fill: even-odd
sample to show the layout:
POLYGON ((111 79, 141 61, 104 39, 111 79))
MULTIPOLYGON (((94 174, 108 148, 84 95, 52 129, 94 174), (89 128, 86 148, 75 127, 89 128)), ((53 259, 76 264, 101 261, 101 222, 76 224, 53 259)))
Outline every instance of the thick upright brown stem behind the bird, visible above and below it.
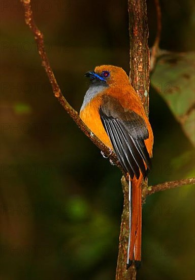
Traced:
MULTIPOLYGON (((132 86, 140 96, 146 114, 149 111, 149 48, 147 7, 145 0, 128 0, 129 40, 130 40, 130 74, 132 86)), ((147 186, 147 180, 143 181, 147 186)), ((116 280, 136 279, 134 264, 126 269, 127 243, 129 233, 128 184, 122 177, 124 205, 121 216, 119 253, 116 269, 116 280)))

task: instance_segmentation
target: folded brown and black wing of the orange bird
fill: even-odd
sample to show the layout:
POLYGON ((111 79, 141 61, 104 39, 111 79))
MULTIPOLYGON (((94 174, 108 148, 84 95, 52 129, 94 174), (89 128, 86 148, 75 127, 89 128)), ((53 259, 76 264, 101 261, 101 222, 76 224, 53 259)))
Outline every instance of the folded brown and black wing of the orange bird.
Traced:
POLYGON ((99 109, 104 128, 110 138, 114 152, 125 172, 138 179, 140 171, 146 176, 146 163, 151 169, 151 161, 144 140, 148 138, 144 119, 133 110, 124 109, 119 101, 109 95, 103 96, 99 109))

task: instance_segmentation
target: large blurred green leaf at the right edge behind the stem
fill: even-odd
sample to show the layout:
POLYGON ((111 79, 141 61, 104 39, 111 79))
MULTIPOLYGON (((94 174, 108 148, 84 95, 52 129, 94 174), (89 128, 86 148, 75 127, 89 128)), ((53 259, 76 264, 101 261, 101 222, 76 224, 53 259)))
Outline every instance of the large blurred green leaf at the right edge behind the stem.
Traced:
POLYGON ((151 76, 151 85, 164 98, 194 145, 194 52, 161 51, 151 76))

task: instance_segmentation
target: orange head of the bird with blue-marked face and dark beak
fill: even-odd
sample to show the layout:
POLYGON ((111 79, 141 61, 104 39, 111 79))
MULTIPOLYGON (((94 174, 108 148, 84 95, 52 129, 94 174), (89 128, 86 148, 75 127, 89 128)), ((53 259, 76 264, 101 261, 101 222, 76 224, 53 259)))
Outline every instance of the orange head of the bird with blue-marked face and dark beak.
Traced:
POLYGON ((89 77, 90 81, 95 85, 117 86, 118 83, 120 85, 129 85, 127 74, 122 68, 117 66, 96 66, 94 71, 87 72, 85 76, 89 77))

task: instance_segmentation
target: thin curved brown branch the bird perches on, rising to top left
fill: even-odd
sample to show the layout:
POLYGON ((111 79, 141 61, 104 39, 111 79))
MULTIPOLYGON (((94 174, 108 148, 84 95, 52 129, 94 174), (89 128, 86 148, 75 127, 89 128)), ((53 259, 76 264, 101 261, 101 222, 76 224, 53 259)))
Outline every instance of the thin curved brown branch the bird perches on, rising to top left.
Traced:
POLYGON ((64 96, 62 95, 61 90, 58 86, 58 83, 55 79, 54 73, 52 71, 52 68, 50 66, 46 51, 45 51, 43 34, 38 29, 38 27, 35 23, 32 9, 31 9, 30 0, 21 0, 21 2, 23 3, 23 6, 24 6, 25 22, 29 26, 32 33, 34 34, 35 41, 36 41, 37 47, 38 47, 38 52, 39 52, 41 60, 42 60, 42 66, 44 67, 44 69, 47 73, 47 76, 49 78, 49 81, 52 86, 55 97, 58 99, 58 101, 60 102, 62 107, 67 111, 67 113, 71 116, 71 118, 75 121, 75 123, 78 125, 78 127, 85 133, 85 135, 87 135, 87 137, 89 137, 91 139, 93 144, 95 144, 107 157, 109 157, 112 160, 112 162, 119 167, 119 169, 122 171, 122 173, 125 174, 115 153, 111 152, 110 149, 107 146, 105 146, 104 143, 102 143, 100 141, 100 139, 98 137, 96 137, 88 129, 88 127, 80 119, 77 111, 68 103, 66 98, 64 98, 64 96))

